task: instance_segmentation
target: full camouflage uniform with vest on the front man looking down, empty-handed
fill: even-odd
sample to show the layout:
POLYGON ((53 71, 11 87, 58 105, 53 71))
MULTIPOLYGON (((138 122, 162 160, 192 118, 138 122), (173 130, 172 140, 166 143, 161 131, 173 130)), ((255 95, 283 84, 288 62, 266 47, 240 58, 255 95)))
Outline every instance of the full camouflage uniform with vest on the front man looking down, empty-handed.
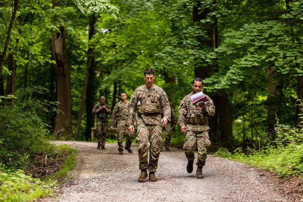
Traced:
POLYGON ((138 110, 138 132, 136 143, 138 144, 139 169, 148 168, 150 172, 156 172, 162 143, 161 108, 163 116, 170 122, 171 109, 164 90, 156 85, 147 91, 142 85, 134 91, 131 98, 131 106, 128 114, 128 126, 134 125, 136 111, 138 110), (149 163, 148 163, 149 149, 149 163))

